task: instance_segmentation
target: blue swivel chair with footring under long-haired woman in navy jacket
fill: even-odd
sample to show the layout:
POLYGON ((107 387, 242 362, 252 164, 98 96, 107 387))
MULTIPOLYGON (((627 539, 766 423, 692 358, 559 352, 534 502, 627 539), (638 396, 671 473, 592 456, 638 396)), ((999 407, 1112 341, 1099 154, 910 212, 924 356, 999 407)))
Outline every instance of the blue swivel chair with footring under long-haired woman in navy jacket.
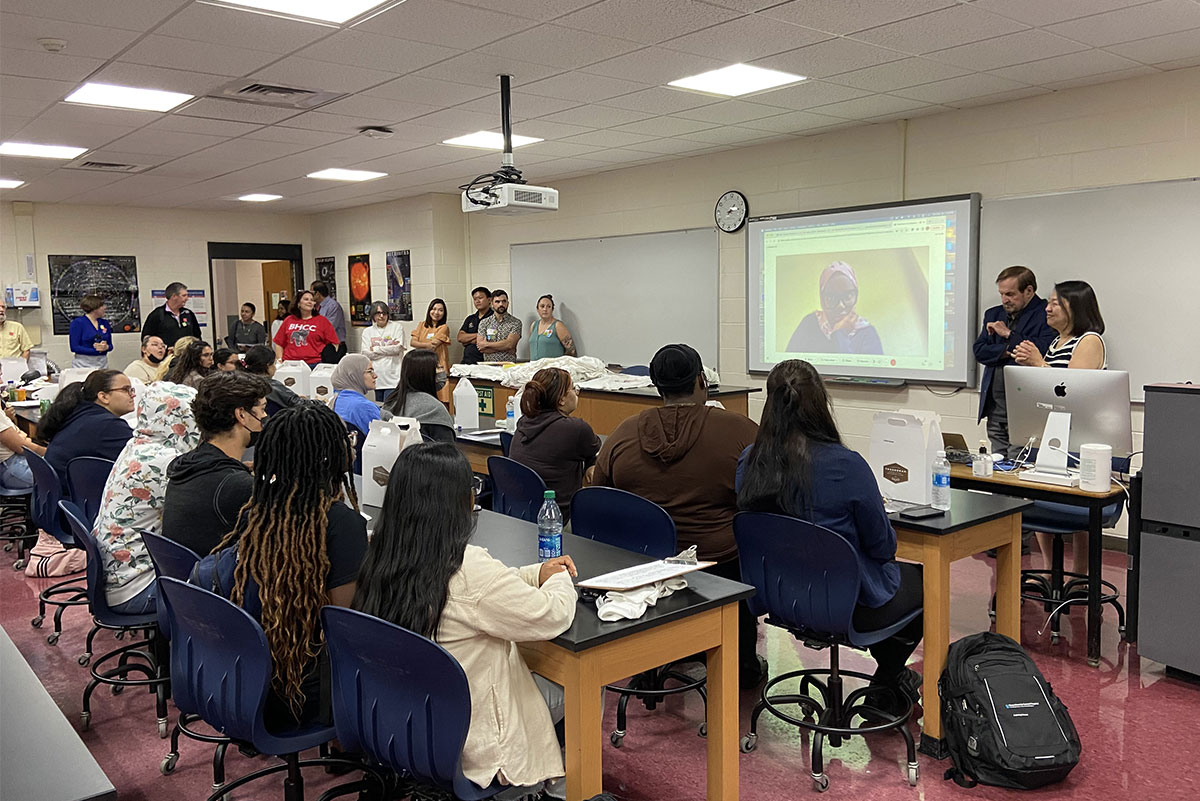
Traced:
MULTIPOLYGON (((829 529, 784 514, 740 512, 733 518, 733 536, 738 543, 742 580, 757 590, 749 600, 755 615, 767 615, 767 622, 790 631, 809 648, 829 648, 829 667, 793 670, 769 680, 750 716, 750 733, 742 740, 742 751, 754 751, 757 745, 758 716, 766 710, 800 729, 812 731, 812 785, 817 791, 829 787, 821 755, 826 737, 833 746, 845 737, 895 730, 905 739, 908 751, 908 783, 917 784, 919 767, 917 748, 908 731, 912 707, 902 716, 888 715, 874 706, 871 695, 881 688, 860 687, 842 695, 842 677, 854 676, 870 681, 865 673, 842 670, 839 646, 865 649, 880 643, 920 615, 917 609, 887 628, 860 632, 854 628, 854 607, 858 604, 858 553, 845 537, 829 529), (823 681, 821 676, 826 676, 823 681), (770 691, 785 681, 800 680, 798 693, 772 695, 770 691), (822 701, 808 694, 818 691, 822 701), (781 706, 799 706, 803 719, 781 706), (860 725, 851 725, 854 717, 860 725), (815 719, 814 719, 815 718, 815 719)), ((936 701, 932 701, 936 703, 936 701)))

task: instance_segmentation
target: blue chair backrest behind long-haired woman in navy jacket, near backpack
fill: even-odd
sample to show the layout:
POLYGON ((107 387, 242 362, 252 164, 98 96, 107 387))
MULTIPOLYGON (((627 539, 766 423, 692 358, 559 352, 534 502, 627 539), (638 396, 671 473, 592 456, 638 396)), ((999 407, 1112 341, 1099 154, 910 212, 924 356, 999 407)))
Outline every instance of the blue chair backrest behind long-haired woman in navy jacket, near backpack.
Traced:
POLYGON ((757 592, 755 615, 802 632, 848 642, 860 583, 858 553, 835 531, 785 514, 733 517, 742 580, 757 592))

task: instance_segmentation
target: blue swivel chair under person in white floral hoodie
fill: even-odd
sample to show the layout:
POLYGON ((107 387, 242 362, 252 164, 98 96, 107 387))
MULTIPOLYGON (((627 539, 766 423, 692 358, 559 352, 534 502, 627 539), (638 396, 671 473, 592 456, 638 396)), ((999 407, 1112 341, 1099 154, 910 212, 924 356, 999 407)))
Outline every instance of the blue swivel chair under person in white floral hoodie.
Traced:
POLYGON ((79 664, 90 664, 91 681, 83 691, 83 712, 79 718, 86 730, 91 725, 91 694, 100 685, 112 687, 119 694, 126 687, 149 687, 155 693, 155 711, 158 717, 158 736, 167 736, 167 697, 170 694, 170 676, 167 673, 164 640, 158 636, 158 619, 154 612, 143 615, 126 615, 113 612, 104 595, 104 561, 92 536, 92 526, 83 522, 83 511, 71 501, 59 501, 76 542, 88 553, 88 607, 94 626, 88 632, 88 645, 79 664), (130 643, 92 661, 92 643, 101 631, 128 636, 130 643), (138 643, 133 634, 142 632, 145 642, 138 643), (133 661, 140 658, 142 662, 133 661), (109 663, 116 661, 116 667, 109 663), (131 679, 130 673, 143 674, 144 679, 131 679))

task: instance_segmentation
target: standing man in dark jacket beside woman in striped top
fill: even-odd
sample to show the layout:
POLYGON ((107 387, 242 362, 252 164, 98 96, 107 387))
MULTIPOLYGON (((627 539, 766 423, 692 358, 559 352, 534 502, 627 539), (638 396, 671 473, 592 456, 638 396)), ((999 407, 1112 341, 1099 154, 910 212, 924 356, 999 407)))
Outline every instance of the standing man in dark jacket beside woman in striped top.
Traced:
POLYGON ((1044 354, 1054 342, 1055 330, 1046 323, 1046 302, 1038 297, 1038 279, 1020 265, 1004 267, 996 276, 1000 306, 983 315, 983 330, 974 343, 976 361, 984 366, 979 383, 979 417, 988 418, 988 439, 994 453, 1013 456, 1022 442, 1008 441, 1008 406, 1004 402, 1004 366, 1015 365, 1013 350, 1022 341, 1032 342, 1044 354))

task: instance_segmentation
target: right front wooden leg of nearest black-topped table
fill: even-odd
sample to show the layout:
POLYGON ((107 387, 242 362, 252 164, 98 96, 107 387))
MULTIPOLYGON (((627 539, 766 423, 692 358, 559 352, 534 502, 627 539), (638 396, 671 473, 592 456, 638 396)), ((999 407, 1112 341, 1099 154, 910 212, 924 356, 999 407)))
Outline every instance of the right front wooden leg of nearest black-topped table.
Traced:
POLYGON ((738 604, 721 608, 708 651, 708 801, 738 801, 738 604))

